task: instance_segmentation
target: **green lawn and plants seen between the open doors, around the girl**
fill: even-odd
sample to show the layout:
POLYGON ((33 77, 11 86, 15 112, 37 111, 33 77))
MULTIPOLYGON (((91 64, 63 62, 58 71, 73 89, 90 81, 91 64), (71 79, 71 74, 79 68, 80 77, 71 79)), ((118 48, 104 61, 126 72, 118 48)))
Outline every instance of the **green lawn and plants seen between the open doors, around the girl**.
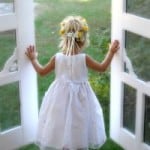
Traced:
MULTIPOLYGON (((68 15, 81 15, 88 21, 90 27, 90 46, 86 53, 101 61, 110 42, 111 0, 36 0, 35 31, 36 48, 39 61, 47 63, 59 49, 59 23, 68 15)), ((42 97, 54 79, 54 73, 46 77, 38 77, 39 104, 42 97)), ((99 74, 89 71, 89 81, 103 107, 108 140, 100 150, 122 150, 109 138, 109 69, 99 74)), ((29 145, 19 150, 38 150, 35 145, 29 145)))

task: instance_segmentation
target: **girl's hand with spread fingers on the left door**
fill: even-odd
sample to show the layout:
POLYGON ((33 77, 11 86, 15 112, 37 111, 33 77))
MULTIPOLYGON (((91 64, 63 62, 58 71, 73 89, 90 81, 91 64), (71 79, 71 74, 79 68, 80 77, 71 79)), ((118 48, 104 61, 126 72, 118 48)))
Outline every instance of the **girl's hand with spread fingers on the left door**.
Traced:
POLYGON ((38 56, 38 53, 35 50, 35 47, 31 45, 26 49, 25 54, 31 61, 35 60, 38 56))

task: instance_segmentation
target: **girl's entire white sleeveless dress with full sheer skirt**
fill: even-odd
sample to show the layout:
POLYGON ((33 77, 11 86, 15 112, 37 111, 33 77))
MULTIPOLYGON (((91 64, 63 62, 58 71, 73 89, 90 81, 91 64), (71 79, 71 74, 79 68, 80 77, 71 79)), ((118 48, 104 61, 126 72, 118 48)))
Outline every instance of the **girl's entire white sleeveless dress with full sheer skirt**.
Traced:
POLYGON ((55 55, 55 80, 39 113, 41 150, 97 149, 106 141, 102 108, 88 82, 86 55, 55 55))

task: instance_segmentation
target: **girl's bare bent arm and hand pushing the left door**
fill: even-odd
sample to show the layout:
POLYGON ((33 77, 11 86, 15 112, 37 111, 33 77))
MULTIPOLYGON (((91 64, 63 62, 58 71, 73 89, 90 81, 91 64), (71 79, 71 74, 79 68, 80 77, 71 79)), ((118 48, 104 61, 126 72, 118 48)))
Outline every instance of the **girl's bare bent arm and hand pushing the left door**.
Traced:
POLYGON ((36 52, 34 46, 29 46, 27 48, 27 51, 25 52, 25 54, 27 55, 27 57, 31 61, 36 72, 38 74, 40 74, 41 76, 44 76, 44 75, 46 75, 46 74, 48 74, 54 70, 54 68, 55 68, 55 56, 53 56, 45 66, 42 66, 39 63, 39 61, 37 60, 37 52, 36 52))

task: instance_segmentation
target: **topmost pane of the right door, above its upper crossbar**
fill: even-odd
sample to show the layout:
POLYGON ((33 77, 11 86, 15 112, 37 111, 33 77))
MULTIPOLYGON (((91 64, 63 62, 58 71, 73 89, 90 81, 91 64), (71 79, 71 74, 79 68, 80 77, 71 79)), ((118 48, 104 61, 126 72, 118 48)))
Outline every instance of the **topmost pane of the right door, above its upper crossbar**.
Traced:
POLYGON ((150 18, 150 0, 127 0, 126 11, 141 17, 150 18))

